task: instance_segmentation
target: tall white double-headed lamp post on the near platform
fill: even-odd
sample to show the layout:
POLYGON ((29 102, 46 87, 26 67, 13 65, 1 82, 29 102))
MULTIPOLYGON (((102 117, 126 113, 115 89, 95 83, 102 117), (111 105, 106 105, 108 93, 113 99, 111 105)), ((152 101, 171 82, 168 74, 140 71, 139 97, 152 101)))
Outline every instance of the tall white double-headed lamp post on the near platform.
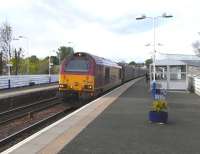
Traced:
POLYGON ((171 18, 172 15, 167 15, 166 13, 163 13, 162 16, 156 16, 156 17, 148 17, 146 15, 142 15, 141 17, 137 17, 136 20, 143 20, 143 19, 151 19, 153 21, 153 89, 155 88, 155 82, 156 82, 156 49, 155 49, 155 42, 156 42, 156 27, 155 27, 155 21, 158 18, 171 18))

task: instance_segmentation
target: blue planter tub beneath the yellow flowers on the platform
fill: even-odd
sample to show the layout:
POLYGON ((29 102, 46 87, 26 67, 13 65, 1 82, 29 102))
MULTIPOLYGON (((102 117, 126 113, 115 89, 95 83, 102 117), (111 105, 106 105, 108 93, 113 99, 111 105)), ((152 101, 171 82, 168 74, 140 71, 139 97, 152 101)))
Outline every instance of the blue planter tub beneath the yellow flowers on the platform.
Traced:
POLYGON ((152 122, 167 123, 168 113, 165 111, 160 111, 160 112, 150 111, 149 120, 152 122))

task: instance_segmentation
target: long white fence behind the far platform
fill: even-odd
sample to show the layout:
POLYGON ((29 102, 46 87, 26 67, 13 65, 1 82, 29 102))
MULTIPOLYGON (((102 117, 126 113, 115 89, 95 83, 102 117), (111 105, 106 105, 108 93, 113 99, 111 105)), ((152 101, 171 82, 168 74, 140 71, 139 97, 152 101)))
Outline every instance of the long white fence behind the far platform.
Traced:
POLYGON ((0 89, 23 87, 34 84, 53 83, 58 82, 58 75, 11 75, 0 76, 0 89))

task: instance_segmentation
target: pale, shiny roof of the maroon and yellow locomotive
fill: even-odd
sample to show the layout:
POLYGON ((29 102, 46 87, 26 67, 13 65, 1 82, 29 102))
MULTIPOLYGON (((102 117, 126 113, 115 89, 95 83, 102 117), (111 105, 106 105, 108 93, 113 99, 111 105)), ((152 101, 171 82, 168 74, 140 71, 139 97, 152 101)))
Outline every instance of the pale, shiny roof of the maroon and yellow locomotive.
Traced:
POLYGON ((88 56, 90 56, 94 59, 96 64, 99 64, 99 65, 106 65, 106 66, 121 68, 121 66, 119 66, 116 62, 113 62, 109 59, 105 59, 105 58, 102 58, 102 57, 99 57, 99 56, 95 56, 95 55, 92 55, 92 54, 89 54, 89 53, 86 53, 86 52, 77 52, 75 54, 88 55, 88 56))

